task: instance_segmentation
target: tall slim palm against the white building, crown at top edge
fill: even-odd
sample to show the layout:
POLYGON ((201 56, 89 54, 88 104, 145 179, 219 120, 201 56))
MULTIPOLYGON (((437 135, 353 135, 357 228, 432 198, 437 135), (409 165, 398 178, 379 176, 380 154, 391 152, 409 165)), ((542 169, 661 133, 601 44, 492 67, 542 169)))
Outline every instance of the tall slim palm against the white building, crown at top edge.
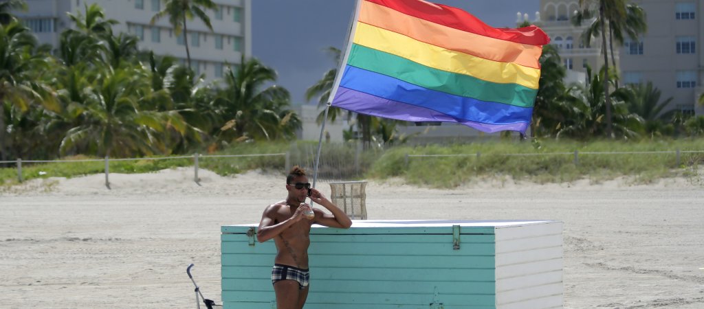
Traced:
POLYGON ((157 20, 169 17, 169 23, 174 27, 174 33, 180 35, 183 32, 184 45, 186 46, 186 58, 188 68, 191 68, 191 51, 188 48, 188 25, 187 20, 193 20, 198 17, 206 24, 210 31, 213 31, 213 25, 210 24, 210 17, 203 11, 203 8, 218 9, 218 5, 213 0, 164 0, 164 9, 151 18, 151 24, 157 20))

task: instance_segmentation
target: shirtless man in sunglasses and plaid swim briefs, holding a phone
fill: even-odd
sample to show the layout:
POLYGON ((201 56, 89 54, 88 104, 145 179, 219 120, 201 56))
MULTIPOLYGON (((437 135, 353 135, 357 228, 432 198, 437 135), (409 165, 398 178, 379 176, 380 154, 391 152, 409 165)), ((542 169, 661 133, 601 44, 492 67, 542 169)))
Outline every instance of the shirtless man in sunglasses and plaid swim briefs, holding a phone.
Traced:
POLYGON ((348 229, 352 220, 330 202, 320 191, 310 188, 303 169, 295 166, 286 177, 286 200, 268 206, 257 229, 259 242, 274 239, 277 255, 271 281, 276 292, 278 309, 301 309, 308 297, 308 246, 310 226, 313 223, 326 227, 348 229), (332 215, 306 204, 310 199, 327 208, 332 215), (313 210, 314 217, 306 217, 306 210, 313 210))

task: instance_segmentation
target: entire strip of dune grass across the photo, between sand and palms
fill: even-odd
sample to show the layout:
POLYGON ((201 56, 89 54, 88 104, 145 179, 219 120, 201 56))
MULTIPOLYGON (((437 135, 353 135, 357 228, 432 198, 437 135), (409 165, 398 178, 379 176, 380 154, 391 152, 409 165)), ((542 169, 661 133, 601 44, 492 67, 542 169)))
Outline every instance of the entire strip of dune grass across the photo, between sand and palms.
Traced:
MULTIPOLYGON (((237 144, 213 155, 287 153, 289 163, 305 162, 312 165, 315 142, 262 142, 237 144), (301 150, 303 149, 303 150, 301 150)), ((591 179, 599 182, 628 176, 635 182, 648 183, 662 177, 697 175, 696 168, 704 164, 704 139, 662 141, 487 141, 474 144, 428 146, 396 146, 391 149, 359 152, 349 144, 325 144, 321 171, 338 172, 349 179, 389 179, 401 177, 410 184, 425 187, 451 188, 486 177, 510 177, 531 182, 572 182, 591 179), (674 153, 680 149, 679 165, 674 153), (575 164, 574 151, 578 151, 575 164), (670 153, 637 153, 662 152, 670 153), (477 153, 479 154, 477 156, 477 153), (611 154, 596 154, 611 153, 611 154), (359 154, 360 158, 356 160, 359 154), (410 155, 407 157, 407 155, 410 155), (416 156, 413 156, 416 155, 416 156), (424 155, 418 157, 417 155, 424 155), (453 155, 428 157, 427 155, 453 155), (358 171, 353 171, 358 162, 358 171)), ((63 160, 87 159, 84 156, 63 160)), ((94 158, 99 159, 99 158, 94 158)), ((167 168, 192 166, 192 158, 165 158, 162 160, 111 161, 110 172, 142 173, 167 168)), ((239 158, 203 158, 199 166, 218 175, 233 175, 248 170, 282 172, 285 156, 257 156, 239 158)), ((104 172, 104 162, 23 164, 23 178, 77 177, 104 172)), ((14 164, 0 168, 0 184, 17 184, 14 164)))

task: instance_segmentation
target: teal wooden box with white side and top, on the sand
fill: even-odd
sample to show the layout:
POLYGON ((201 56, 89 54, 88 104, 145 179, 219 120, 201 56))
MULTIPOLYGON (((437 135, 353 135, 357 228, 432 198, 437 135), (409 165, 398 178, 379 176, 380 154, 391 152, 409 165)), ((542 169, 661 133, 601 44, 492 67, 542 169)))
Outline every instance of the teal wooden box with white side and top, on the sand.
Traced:
MULTIPOLYGON (((562 222, 360 220, 313 225, 306 309, 562 308, 562 222)), ((276 308, 273 241, 222 227, 226 309, 276 308)))

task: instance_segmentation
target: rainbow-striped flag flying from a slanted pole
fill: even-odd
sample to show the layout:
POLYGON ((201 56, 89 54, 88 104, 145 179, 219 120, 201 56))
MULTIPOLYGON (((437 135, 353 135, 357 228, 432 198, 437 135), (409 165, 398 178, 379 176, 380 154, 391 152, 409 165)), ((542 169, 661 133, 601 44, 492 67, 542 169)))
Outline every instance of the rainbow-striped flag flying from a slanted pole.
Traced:
POLYGON ((525 132, 548 35, 494 28, 422 0, 359 0, 332 106, 384 118, 525 132))

